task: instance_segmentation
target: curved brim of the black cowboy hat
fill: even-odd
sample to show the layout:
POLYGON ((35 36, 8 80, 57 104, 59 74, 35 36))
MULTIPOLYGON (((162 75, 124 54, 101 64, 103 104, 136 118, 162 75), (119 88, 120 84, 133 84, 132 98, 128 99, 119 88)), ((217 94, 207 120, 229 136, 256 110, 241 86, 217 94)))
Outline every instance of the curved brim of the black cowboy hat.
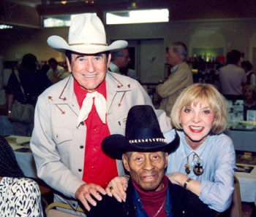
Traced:
POLYGON ((113 159, 122 159, 122 155, 127 151, 138 151, 138 152, 152 152, 152 151, 164 151, 168 154, 176 151, 180 143, 178 133, 170 143, 164 142, 151 142, 148 146, 148 142, 144 143, 129 143, 124 135, 113 134, 106 137, 102 141, 102 150, 105 154, 112 157, 113 159))

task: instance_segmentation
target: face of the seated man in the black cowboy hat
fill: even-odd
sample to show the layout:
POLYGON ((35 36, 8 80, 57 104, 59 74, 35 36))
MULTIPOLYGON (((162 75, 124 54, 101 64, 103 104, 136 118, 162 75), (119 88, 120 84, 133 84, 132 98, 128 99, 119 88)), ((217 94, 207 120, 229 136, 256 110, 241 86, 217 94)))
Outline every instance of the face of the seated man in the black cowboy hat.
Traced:
POLYGON ((129 171, 132 180, 144 191, 162 190, 162 178, 167 167, 167 153, 128 152, 123 154, 124 167, 129 171))

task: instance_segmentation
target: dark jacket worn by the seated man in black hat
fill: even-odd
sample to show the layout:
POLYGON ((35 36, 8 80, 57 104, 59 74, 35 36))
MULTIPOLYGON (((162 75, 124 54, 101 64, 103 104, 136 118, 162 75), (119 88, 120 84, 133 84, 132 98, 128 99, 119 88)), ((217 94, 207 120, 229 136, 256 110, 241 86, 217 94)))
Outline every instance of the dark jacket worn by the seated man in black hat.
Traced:
MULTIPOLYGON (((173 185, 168 181, 169 191, 173 202, 173 217, 211 217, 214 216, 214 210, 208 208, 196 194, 173 185)), ((136 207, 133 204, 133 194, 135 188, 132 181, 129 180, 127 188, 126 202, 118 202, 114 197, 103 196, 101 201, 97 201, 96 207, 91 207, 88 217, 120 217, 136 216, 136 207)))

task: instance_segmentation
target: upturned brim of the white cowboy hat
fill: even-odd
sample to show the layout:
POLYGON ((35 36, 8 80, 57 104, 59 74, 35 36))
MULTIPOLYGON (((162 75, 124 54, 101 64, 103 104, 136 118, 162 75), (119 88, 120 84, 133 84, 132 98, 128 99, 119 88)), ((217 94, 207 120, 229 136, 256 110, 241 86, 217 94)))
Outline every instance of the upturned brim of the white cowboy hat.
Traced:
POLYGON ((59 52, 66 52, 70 50, 73 52, 85 53, 85 54, 94 54, 99 52, 106 51, 115 51, 124 49, 128 46, 128 42, 124 40, 118 40, 110 44, 110 46, 104 45, 95 45, 95 44, 78 44, 78 45, 69 45, 67 42, 60 36, 50 36, 47 40, 48 45, 59 52))

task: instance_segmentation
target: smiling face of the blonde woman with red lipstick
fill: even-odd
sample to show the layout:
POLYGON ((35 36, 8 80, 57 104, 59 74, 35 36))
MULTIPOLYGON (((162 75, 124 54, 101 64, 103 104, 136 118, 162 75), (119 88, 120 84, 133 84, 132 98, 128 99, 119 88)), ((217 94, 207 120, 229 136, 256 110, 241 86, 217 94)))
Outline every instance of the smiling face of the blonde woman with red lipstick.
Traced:
POLYGON ((188 145, 197 149, 211 132, 215 120, 214 111, 206 102, 197 103, 196 106, 184 106, 180 118, 188 145))

